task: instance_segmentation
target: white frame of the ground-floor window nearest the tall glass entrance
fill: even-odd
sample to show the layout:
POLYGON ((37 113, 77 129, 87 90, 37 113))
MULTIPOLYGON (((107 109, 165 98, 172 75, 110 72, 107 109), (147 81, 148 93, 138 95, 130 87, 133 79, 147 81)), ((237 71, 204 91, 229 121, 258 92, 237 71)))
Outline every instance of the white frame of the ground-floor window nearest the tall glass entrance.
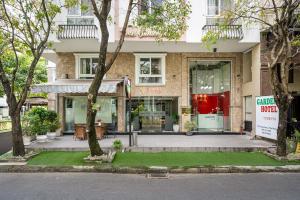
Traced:
MULTIPOLYGON (((135 53, 135 85, 136 86, 164 86, 166 84, 166 53, 135 53), (161 75, 147 75, 140 73, 140 60, 142 58, 159 58, 161 59, 161 75), (141 83, 141 77, 161 77, 161 83, 141 83)), ((150 73, 151 73, 151 61, 150 61, 150 73)))

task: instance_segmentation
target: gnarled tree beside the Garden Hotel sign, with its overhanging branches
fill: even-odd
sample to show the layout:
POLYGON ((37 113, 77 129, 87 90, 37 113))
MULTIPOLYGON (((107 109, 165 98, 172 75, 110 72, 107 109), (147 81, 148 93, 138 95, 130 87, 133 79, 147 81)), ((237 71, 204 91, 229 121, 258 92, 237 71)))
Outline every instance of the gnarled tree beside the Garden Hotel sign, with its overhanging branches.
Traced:
MULTIPOLYGON (((299 35, 295 34, 295 25, 299 22, 299 0, 238 0, 231 10, 225 11, 225 23, 220 31, 226 29, 228 23, 242 19, 248 24, 259 25, 262 31, 271 34, 268 41, 267 55, 271 88, 279 109, 279 125, 277 129, 277 155, 286 155, 287 115, 292 96, 288 89, 288 72, 293 58, 299 52, 299 35)), ((204 39, 216 41, 219 33, 210 33, 204 39)))

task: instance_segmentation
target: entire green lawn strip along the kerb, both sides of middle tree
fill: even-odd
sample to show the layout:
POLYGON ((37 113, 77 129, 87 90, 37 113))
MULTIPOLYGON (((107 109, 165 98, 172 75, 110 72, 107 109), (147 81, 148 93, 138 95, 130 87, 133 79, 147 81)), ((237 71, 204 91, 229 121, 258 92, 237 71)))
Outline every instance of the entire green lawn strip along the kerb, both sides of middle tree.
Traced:
MULTIPOLYGON (((29 160, 28 165, 72 166, 88 165, 83 158, 89 152, 42 152, 29 160)), ((160 153, 117 153, 115 167, 193 167, 193 166, 280 166, 300 164, 274 160, 260 152, 160 152, 160 153)))

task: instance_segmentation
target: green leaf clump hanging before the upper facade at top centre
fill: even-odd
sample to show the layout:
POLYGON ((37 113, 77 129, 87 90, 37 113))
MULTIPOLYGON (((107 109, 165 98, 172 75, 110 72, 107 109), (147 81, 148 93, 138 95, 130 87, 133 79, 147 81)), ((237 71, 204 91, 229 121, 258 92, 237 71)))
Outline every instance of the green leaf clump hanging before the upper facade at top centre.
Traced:
POLYGON ((151 30, 157 33, 156 39, 162 41, 179 40, 187 29, 186 20, 191 13, 189 2, 165 0, 151 7, 151 12, 141 13, 135 24, 141 31, 151 30))

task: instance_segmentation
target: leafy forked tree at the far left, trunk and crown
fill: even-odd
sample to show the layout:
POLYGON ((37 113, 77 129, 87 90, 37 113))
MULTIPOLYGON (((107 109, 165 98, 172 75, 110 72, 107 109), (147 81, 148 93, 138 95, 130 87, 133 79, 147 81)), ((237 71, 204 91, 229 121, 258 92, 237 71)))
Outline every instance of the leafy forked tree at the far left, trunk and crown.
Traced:
POLYGON ((51 1, 1 0, 0 81, 12 120, 14 156, 25 155, 20 112, 33 83, 36 67, 48 45, 54 17, 59 12, 60 7, 51 1), (26 75, 21 76, 25 72, 22 67, 24 55, 29 56, 29 60, 26 75))

